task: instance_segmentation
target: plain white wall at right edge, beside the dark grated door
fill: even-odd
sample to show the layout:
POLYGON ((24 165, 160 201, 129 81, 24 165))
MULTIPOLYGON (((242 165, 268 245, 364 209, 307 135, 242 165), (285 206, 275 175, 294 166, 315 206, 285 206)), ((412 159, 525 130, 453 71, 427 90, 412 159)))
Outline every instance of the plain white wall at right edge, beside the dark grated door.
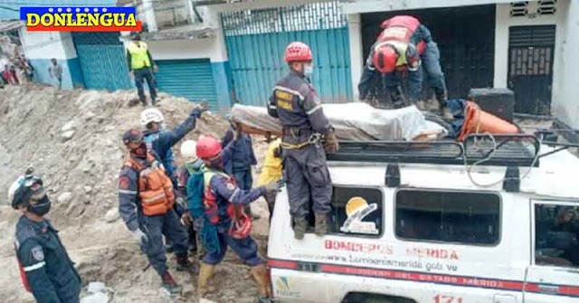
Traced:
POLYGON ((567 125, 579 129, 579 0, 571 0, 565 13, 565 25, 560 38, 558 91, 551 103, 551 112, 567 125))

